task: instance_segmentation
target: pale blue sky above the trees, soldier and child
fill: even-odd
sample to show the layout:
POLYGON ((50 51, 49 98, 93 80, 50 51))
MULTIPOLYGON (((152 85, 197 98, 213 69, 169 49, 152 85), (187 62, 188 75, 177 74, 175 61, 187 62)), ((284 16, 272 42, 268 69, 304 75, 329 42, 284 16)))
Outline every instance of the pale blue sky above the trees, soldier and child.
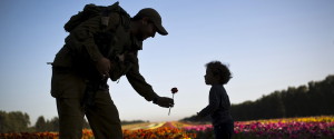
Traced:
MULTIPOLYGON (((51 62, 68 33, 63 24, 87 3, 114 0, 1 0, 0 110, 57 116, 50 96, 51 62)), ((334 73, 333 0, 120 0, 135 16, 155 8, 168 36, 156 34, 139 51, 140 72, 154 90, 171 97, 168 109, 147 102, 122 77, 109 82, 121 120, 169 121, 208 103, 205 63, 229 64, 232 103, 307 85, 334 73)))

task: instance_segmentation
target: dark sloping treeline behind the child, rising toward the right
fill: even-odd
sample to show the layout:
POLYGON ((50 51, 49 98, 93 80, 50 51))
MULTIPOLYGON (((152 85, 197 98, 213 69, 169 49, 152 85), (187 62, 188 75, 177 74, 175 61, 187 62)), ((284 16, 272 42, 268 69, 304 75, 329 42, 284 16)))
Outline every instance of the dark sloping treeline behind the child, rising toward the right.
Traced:
MULTIPOLYGON (((334 115, 334 75, 307 86, 274 91, 255 101, 232 105, 230 113, 236 121, 334 115)), ((198 121, 195 116, 181 120, 198 121)))

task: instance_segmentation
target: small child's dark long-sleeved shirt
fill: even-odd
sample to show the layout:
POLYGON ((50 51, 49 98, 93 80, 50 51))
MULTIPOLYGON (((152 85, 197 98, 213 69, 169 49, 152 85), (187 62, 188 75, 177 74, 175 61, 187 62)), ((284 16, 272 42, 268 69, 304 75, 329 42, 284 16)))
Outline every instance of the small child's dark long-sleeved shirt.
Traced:
POLYGON ((218 126, 233 121, 229 109, 229 98, 223 85, 213 85, 209 91, 209 105, 198 116, 206 117, 210 115, 213 125, 218 126))

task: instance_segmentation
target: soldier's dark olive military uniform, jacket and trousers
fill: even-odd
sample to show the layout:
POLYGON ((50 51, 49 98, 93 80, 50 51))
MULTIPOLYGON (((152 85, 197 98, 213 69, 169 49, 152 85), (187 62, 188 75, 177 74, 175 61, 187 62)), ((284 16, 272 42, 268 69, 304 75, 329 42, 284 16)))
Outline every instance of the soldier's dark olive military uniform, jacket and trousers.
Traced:
POLYGON ((121 125, 106 79, 94 62, 102 57, 111 61, 110 78, 126 76, 132 88, 147 101, 157 93, 139 72, 138 50, 143 41, 130 34, 130 17, 112 12, 107 27, 96 16, 76 27, 52 63, 51 96, 57 100, 60 139, 80 139, 86 115, 96 139, 121 139, 121 125), (110 34, 110 36, 109 36, 110 34), (105 37, 105 38, 104 38, 105 37), (98 85, 94 106, 82 103, 89 83, 98 85))

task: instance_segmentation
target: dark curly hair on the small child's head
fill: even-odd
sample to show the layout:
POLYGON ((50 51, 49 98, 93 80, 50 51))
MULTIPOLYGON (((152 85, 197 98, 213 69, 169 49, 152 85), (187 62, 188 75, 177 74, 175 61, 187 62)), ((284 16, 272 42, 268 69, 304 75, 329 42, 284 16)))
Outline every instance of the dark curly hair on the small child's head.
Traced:
POLYGON ((232 73, 226 64, 220 61, 212 61, 205 64, 206 68, 210 69, 214 76, 219 76, 219 83, 226 85, 232 78, 232 73))

